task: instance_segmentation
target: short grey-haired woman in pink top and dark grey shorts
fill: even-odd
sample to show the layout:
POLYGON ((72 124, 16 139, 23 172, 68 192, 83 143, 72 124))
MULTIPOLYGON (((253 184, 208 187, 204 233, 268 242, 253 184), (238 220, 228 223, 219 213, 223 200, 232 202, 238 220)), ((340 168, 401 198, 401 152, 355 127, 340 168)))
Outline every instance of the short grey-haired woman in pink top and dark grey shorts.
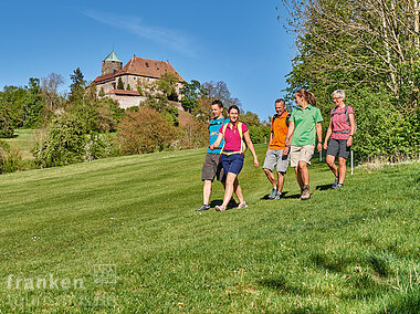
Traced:
POLYGON ((346 160, 356 130, 355 111, 353 107, 344 104, 345 97, 346 94, 343 90, 337 90, 333 93, 333 102, 336 106, 332 109, 332 117, 324 142, 324 149, 327 149, 327 164, 335 176, 333 189, 343 188, 347 170, 346 160), (335 157, 337 155, 339 169, 335 165, 335 157))

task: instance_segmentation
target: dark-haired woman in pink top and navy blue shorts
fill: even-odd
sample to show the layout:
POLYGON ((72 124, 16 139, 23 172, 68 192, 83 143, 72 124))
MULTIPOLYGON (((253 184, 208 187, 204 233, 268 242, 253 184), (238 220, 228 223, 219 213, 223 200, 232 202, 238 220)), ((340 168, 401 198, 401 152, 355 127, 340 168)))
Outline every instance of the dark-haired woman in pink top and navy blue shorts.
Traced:
POLYGON ((256 157, 254 146, 252 145, 248 127, 245 124, 239 122, 239 107, 235 105, 230 106, 228 114, 230 122, 220 128, 218 138, 212 145, 210 145, 210 149, 219 147, 222 138, 224 137, 224 147, 221 154, 227 180, 223 203, 216 207, 216 210, 218 211, 224 211, 227 209, 227 206, 232 198, 233 191, 235 191, 239 199, 238 208, 241 209, 248 207, 245 200, 243 199, 242 190, 238 181, 238 175, 243 166, 244 147, 242 139, 244 139, 246 146, 252 153, 252 156, 254 157, 255 168, 259 167, 259 159, 256 157))

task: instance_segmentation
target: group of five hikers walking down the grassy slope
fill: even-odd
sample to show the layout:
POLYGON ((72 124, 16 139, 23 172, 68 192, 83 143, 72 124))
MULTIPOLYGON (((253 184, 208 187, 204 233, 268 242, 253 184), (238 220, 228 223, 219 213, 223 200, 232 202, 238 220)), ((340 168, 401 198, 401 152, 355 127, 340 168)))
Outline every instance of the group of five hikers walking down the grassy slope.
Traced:
MULTIPOLYGON (((332 94, 335 104, 330 112, 329 125, 323 143, 323 117, 314 94, 305 90, 295 92, 297 107, 290 114, 284 100, 275 101, 275 112, 271 121, 270 143, 265 154, 263 170, 272 185, 269 199, 281 199, 284 176, 288 165, 295 168, 295 175, 301 187, 301 200, 311 198, 309 171, 307 166, 316 149, 327 150, 326 161, 335 179, 333 189, 343 188, 346 176, 346 159, 348 158, 356 130, 355 112, 345 105, 345 92, 337 90, 332 94), (335 158, 338 155, 338 167, 335 158), (276 168, 276 176, 274 175, 276 168)), ((238 208, 246 208, 238 176, 243 167, 244 151, 250 149, 254 166, 259 168, 259 159, 253 147, 248 126, 240 122, 238 106, 230 106, 228 118, 223 116, 223 105, 214 101, 211 105, 213 118, 209 122, 210 142, 206 160, 202 166, 203 203, 197 211, 210 209, 211 185, 214 177, 223 184, 224 197, 216 210, 224 211, 235 207, 233 193, 239 200, 238 208)))

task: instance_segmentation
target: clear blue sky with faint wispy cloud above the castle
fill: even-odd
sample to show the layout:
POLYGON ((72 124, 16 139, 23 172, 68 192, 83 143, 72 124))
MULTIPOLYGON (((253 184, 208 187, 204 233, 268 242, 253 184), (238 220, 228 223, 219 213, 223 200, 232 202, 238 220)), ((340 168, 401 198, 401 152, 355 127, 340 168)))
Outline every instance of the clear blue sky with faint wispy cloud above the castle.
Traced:
POLYGON ((224 81, 244 111, 265 119, 283 96, 295 55, 276 17, 280 0, 4 1, 0 25, 0 87, 29 77, 70 74, 87 81, 114 51, 169 60, 187 81, 224 81))

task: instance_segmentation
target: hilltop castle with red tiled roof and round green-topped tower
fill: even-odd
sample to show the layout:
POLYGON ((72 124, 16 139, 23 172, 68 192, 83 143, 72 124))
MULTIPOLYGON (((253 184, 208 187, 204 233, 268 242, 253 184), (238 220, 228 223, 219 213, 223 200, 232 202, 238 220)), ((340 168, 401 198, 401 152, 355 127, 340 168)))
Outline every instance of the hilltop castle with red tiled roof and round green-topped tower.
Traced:
POLYGON ((128 108, 138 106, 140 102, 146 101, 145 95, 140 94, 138 90, 159 80, 165 73, 174 74, 179 81, 178 90, 181 88, 183 78, 169 64, 169 61, 156 61, 134 55, 123 67, 123 62, 112 51, 102 62, 102 75, 92 83, 96 85, 98 95, 104 93, 105 96, 118 101, 122 108, 128 108), (124 84, 124 90, 117 88, 119 80, 124 84), (138 88, 138 86, 140 87, 138 88))

